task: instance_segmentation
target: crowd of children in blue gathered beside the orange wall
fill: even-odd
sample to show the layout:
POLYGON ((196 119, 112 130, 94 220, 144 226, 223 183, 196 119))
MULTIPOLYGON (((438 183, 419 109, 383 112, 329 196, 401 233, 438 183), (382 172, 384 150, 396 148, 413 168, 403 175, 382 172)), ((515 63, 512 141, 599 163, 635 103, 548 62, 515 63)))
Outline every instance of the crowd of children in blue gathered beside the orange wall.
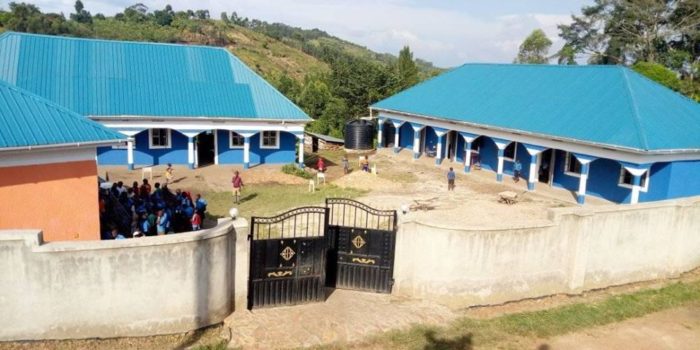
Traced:
MULTIPOLYGON (((170 182, 170 178, 167 178, 170 182)), ((119 181, 100 193, 102 239, 125 239, 197 231, 202 228, 207 201, 180 189, 172 193, 165 184, 147 179, 126 187, 119 181)))

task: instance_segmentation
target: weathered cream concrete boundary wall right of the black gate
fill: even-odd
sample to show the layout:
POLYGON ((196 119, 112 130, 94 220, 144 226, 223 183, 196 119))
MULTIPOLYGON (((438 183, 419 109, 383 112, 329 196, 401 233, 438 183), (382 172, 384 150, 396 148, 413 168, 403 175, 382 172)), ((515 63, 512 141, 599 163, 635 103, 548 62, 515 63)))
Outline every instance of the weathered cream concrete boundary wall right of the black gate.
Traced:
POLYGON ((394 293, 498 304, 674 277, 700 266, 700 199, 556 208, 550 224, 468 229, 404 217, 394 293))

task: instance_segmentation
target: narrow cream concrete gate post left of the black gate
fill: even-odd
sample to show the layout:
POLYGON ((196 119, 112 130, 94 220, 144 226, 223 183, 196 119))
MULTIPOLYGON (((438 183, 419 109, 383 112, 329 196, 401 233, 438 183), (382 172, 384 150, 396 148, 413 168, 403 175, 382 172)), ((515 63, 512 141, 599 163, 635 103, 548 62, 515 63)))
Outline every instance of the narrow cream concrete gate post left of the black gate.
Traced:
POLYGON ((236 230, 235 266, 234 273, 234 312, 245 311, 248 308, 248 276, 250 274, 250 242, 248 221, 237 218, 233 221, 236 230))

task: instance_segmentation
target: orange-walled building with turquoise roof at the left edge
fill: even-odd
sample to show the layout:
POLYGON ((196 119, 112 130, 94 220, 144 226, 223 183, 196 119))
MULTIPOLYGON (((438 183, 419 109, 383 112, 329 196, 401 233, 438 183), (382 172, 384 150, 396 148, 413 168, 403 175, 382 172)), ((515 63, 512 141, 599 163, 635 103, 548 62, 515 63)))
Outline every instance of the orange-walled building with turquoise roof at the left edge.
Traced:
POLYGON ((45 241, 99 240, 96 150, 125 141, 0 82, 0 230, 41 229, 45 241))

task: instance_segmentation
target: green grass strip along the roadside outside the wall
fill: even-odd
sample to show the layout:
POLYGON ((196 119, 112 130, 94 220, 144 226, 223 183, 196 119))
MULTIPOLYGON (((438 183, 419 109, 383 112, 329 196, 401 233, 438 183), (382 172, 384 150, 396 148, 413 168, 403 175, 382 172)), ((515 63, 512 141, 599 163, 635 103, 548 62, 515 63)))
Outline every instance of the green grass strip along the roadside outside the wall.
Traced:
POLYGON ((523 348, 529 341, 624 321, 700 302, 700 281, 610 296, 600 302, 523 312, 492 319, 458 319, 445 327, 416 325, 350 346, 331 348, 471 349, 523 348))

